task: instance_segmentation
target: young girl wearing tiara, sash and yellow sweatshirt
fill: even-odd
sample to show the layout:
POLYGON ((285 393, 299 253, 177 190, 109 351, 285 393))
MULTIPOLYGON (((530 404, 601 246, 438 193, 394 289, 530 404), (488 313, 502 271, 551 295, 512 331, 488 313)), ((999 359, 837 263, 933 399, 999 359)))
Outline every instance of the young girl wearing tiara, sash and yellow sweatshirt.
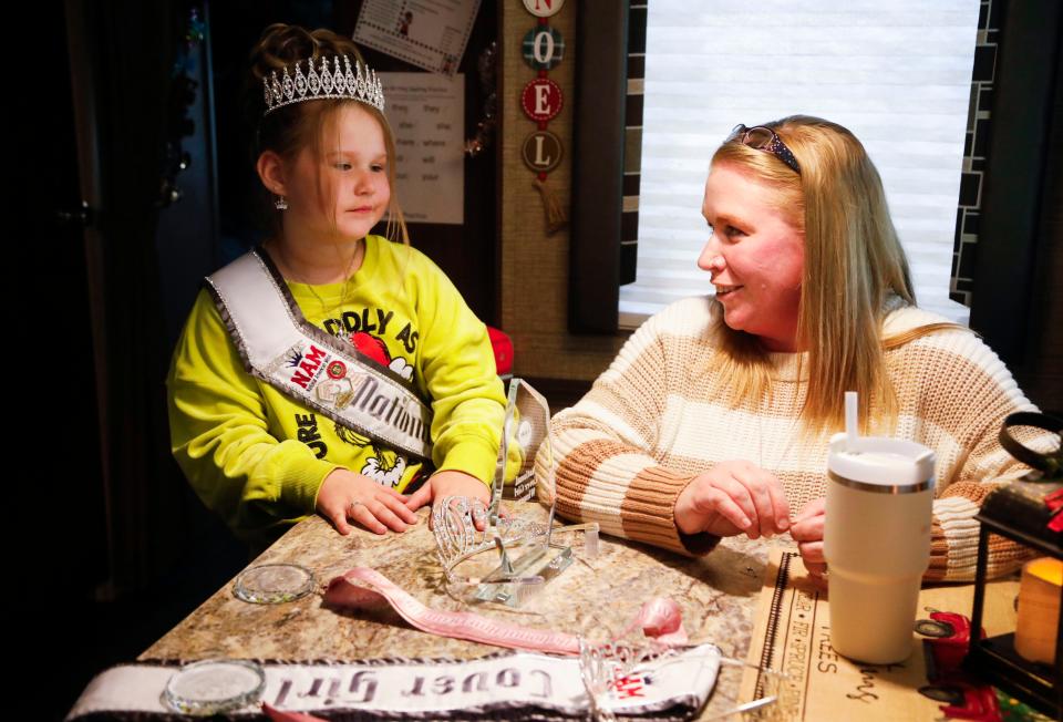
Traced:
POLYGON ((375 74, 349 40, 283 24, 251 73, 276 223, 207 279, 177 343, 177 462, 256 549, 314 512, 384 534, 435 498, 486 501, 502 383, 484 324, 409 246, 375 74), (385 213, 390 239, 370 235, 385 213))

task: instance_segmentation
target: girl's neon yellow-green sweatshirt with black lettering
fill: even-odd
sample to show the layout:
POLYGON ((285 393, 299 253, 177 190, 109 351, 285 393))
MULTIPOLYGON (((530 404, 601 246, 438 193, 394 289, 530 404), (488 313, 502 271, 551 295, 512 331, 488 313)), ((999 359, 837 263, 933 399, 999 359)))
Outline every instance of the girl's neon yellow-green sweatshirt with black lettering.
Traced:
MULTIPOLYGON (((311 323, 350 339, 430 401, 432 458, 491 484, 505 398, 486 327, 426 256, 367 236, 347 283, 288 282, 311 323)), ((245 371, 200 291, 166 382, 174 456, 188 482, 252 548, 314 513, 336 468, 403 491, 422 465, 319 415, 245 371)))

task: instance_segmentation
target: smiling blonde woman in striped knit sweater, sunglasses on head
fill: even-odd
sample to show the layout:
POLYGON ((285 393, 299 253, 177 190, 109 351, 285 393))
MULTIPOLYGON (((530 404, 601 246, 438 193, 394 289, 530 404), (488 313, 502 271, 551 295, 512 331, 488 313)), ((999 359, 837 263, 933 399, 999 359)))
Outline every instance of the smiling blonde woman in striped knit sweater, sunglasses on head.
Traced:
MULTIPOLYGON (((647 321, 555 416, 558 512, 684 554, 788 530, 822 575, 827 440, 855 390, 865 433, 937 453, 927 578, 971 578, 987 479, 1029 471, 997 433, 1034 406, 974 333, 916 307, 860 142, 815 117, 740 125, 702 215, 715 296, 647 321)), ((990 571, 1016 555, 991 543, 990 571)))

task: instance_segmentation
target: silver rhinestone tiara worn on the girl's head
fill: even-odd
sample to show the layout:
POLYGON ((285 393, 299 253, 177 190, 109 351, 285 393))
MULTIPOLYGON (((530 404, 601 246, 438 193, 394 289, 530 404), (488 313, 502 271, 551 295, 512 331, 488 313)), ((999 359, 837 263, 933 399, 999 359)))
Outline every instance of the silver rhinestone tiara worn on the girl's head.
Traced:
POLYGON ((286 65, 280 76, 277 71, 262 78, 266 91, 266 112, 269 115, 278 107, 323 99, 350 99, 367 105, 372 105, 381 113, 384 112, 384 87, 376 78, 376 73, 354 61, 351 69, 351 59, 347 55, 333 55, 334 69, 329 70, 329 59, 321 58, 321 66, 313 68, 313 59, 297 60, 286 65), (343 59, 343 69, 340 70, 340 59, 343 59), (303 64, 307 72, 303 73, 303 64), (288 69, 291 68, 291 73, 288 69), (295 76, 292 76, 295 75, 295 76))

